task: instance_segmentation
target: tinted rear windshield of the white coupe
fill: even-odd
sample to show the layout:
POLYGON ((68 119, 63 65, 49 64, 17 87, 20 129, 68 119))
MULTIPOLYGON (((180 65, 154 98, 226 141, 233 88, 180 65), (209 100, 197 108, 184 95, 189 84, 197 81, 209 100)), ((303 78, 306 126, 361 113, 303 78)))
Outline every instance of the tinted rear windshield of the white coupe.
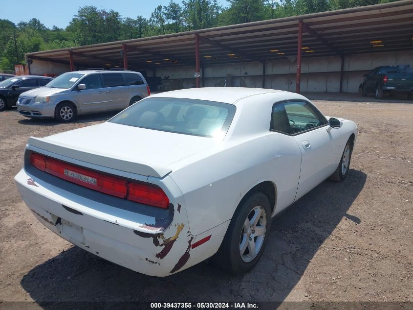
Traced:
POLYGON ((116 124, 202 137, 222 137, 235 114, 228 103, 181 99, 147 98, 110 119, 116 124))

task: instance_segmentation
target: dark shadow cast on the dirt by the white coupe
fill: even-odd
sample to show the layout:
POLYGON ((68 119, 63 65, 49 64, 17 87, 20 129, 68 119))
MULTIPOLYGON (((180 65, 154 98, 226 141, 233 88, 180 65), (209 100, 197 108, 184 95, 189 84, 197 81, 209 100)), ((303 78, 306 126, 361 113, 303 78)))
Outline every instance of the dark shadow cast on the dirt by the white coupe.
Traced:
MULTIPOLYGON (((362 191, 366 174, 351 169, 341 183, 325 181, 281 215, 260 262, 235 276, 202 262, 166 278, 133 272, 77 247, 34 267, 21 285, 43 309, 47 302, 71 301, 278 301, 293 292, 320 246, 344 217, 361 220, 348 209, 362 191)), ((65 309, 65 304, 59 306, 65 309)))

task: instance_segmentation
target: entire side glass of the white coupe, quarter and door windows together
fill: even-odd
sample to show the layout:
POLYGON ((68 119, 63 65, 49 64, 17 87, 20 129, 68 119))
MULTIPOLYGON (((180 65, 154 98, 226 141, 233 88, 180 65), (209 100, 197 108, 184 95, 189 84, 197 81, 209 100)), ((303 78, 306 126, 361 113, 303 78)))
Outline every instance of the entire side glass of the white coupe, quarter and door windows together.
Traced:
POLYGON ((310 103, 293 101, 274 104, 270 129, 293 135, 326 123, 326 119, 310 103))

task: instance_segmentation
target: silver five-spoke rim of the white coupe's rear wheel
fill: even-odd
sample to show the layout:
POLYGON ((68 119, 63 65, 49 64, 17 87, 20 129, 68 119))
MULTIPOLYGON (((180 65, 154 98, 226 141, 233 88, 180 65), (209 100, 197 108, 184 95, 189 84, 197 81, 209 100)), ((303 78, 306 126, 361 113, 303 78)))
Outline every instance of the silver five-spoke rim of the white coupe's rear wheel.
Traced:
POLYGON ((265 238, 267 218, 261 206, 251 210, 242 226, 239 253, 244 262, 251 262, 260 253, 265 238))

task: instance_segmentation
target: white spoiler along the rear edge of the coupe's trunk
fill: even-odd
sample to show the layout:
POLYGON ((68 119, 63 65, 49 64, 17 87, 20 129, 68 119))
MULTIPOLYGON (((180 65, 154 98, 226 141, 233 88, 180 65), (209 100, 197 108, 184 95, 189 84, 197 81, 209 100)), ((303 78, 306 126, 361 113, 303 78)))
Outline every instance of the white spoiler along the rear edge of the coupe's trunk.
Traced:
POLYGON ((101 154, 93 154, 83 150, 69 148, 65 145, 50 142, 42 138, 30 137, 28 144, 41 150, 63 155, 83 162, 145 176, 162 178, 172 172, 172 169, 168 167, 149 166, 144 163, 130 162, 122 158, 111 158, 101 154))

